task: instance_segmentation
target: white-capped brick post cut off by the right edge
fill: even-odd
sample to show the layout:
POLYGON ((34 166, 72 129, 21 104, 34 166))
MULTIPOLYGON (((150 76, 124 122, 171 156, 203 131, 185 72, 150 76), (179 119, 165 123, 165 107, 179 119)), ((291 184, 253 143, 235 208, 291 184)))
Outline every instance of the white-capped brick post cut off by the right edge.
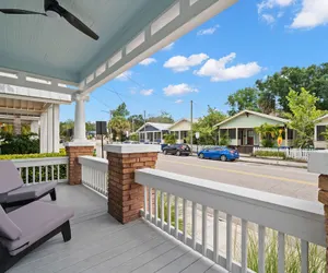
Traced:
MULTIPOLYGON (((318 201, 324 204, 325 211, 325 230, 326 238, 326 257, 328 257, 328 153, 312 152, 308 156, 307 170, 309 173, 320 174, 318 178, 318 201)), ((328 259, 326 261, 326 273, 328 273, 328 259)))

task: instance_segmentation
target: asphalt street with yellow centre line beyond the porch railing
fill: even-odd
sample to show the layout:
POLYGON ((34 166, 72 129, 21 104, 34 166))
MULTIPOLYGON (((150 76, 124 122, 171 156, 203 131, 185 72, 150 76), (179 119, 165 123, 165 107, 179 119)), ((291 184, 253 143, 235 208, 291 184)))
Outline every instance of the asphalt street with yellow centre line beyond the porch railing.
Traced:
POLYGON ((317 201, 318 175, 306 169, 159 155, 157 169, 281 195, 317 201))

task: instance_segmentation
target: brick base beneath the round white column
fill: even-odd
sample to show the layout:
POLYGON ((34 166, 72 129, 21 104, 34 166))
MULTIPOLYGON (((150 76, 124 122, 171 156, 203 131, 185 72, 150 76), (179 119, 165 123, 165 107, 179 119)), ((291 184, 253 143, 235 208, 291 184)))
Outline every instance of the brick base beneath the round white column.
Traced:
POLYGON ((81 164, 79 163, 79 156, 93 155, 93 145, 73 146, 73 143, 70 143, 66 146, 66 154, 69 157, 69 185, 81 183, 81 164))

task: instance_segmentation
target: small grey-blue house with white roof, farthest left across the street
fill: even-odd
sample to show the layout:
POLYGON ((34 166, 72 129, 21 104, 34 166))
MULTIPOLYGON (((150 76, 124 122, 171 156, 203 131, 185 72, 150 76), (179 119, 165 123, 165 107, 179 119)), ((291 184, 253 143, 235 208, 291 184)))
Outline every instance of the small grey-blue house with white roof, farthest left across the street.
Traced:
POLYGON ((162 143, 163 138, 168 133, 168 128, 172 123, 147 122, 140 127, 136 133, 139 134, 140 142, 157 142, 162 143))

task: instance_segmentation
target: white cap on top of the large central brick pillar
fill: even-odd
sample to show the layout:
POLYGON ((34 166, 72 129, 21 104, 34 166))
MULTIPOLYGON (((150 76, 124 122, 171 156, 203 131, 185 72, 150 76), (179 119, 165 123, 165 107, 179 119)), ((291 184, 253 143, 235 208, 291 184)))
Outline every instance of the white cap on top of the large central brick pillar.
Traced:
POLYGON ((161 145, 156 144, 108 144, 104 151, 116 154, 160 153, 161 145))

